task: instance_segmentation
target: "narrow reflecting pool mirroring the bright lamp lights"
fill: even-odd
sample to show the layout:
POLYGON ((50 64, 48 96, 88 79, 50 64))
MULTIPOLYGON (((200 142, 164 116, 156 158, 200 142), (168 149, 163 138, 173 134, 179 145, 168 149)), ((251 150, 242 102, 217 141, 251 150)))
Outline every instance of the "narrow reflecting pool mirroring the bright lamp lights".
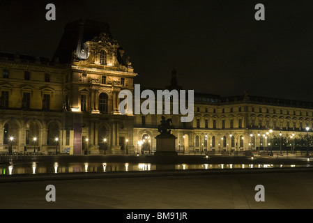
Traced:
POLYGON ((29 162, 23 164, 0 165, 0 175, 13 174, 58 174, 89 173, 111 171, 157 171, 157 170, 212 170, 212 169, 261 169, 286 167, 312 167, 305 165, 282 164, 151 164, 151 163, 118 163, 118 162, 29 162))

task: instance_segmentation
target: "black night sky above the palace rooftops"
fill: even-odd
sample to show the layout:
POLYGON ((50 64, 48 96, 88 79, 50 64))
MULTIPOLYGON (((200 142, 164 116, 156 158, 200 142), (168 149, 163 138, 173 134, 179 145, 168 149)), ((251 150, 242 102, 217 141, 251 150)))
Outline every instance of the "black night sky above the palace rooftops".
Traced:
POLYGON ((1 0, 0 14, 1 51, 51 59, 65 24, 86 18, 109 23, 139 84, 163 88, 175 66, 184 89, 313 101, 313 1, 1 0))

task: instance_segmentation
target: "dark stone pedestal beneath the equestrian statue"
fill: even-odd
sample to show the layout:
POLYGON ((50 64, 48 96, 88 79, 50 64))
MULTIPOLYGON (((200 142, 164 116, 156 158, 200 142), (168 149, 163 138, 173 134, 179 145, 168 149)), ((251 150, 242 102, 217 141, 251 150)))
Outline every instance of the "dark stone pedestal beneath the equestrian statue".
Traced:
POLYGON ((155 139, 156 151, 154 155, 177 155, 174 134, 159 134, 155 139))

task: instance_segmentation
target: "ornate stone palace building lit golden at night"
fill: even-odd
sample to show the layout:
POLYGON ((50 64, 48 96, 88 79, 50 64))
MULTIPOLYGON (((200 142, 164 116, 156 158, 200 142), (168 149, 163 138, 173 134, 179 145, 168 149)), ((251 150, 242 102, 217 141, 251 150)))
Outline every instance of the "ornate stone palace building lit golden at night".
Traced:
MULTIPOLYGON (((108 24, 67 24, 51 61, 0 52, 0 71, 0 151, 10 146, 19 152, 40 148, 41 153, 155 151, 162 115, 119 112, 119 92, 133 92, 137 74, 108 24)), ((165 89, 183 89, 176 70, 165 89)), ((307 127, 311 132, 313 103, 195 92, 192 122, 164 116, 173 121, 180 152, 264 149, 279 133, 296 137, 307 127)))

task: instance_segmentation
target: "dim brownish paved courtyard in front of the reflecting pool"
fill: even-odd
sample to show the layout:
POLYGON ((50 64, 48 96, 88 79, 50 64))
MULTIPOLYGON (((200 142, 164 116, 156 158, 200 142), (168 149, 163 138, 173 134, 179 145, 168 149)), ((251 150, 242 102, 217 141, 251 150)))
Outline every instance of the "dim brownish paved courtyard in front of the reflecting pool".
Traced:
POLYGON ((313 208, 312 171, 132 176, 0 183, 0 208, 313 208), (47 185, 56 201, 47 202, 47 185), (255 201, 264 185, 265 201, 255 201))

